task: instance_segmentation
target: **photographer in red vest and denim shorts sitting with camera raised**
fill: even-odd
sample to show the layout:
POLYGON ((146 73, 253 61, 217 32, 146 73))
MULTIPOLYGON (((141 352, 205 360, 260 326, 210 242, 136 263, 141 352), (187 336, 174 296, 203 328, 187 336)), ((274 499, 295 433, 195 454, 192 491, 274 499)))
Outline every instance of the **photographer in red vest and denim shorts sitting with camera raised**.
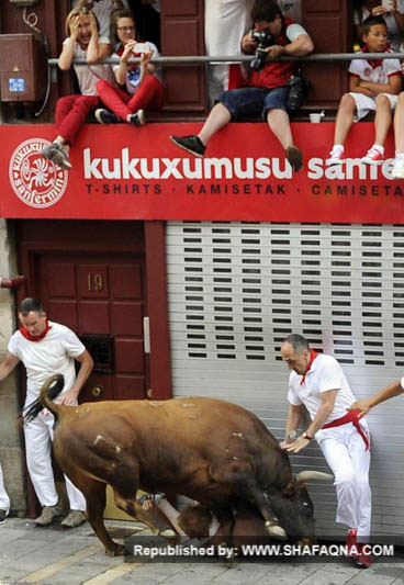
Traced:
POLYGON ((293 76, 294 65, 291 61, 267 61, 281 55, 304 56, 313 50, 313 42, 306 31, 289 19, 285 19, 276 2, 257 0, 251 11, 254 31, 242 40, 244 53, 256 58, 250 67, 250 77, 245 88, 225 91, 218 103, 210 112, 198 136, 171 136, 171 140, 188 153, 202 157, 206 144, 212 136, 232 120, 244 116, 263 115, 269 127, 277 136, 292 169, 299 171, 303 167, 303 155, 293 145, 292 132, 287 112, 289 80, 293 76), (266 32, 269 46, 258 47, 257 33, 266 32), (255 38, 256 37, 256 38, 255 38), (262 58, 265 52, 265 58, 262 58), (258 70, 260 67, 262 68, 258 70), (258 68, 258 69, 257 69, 258 68))

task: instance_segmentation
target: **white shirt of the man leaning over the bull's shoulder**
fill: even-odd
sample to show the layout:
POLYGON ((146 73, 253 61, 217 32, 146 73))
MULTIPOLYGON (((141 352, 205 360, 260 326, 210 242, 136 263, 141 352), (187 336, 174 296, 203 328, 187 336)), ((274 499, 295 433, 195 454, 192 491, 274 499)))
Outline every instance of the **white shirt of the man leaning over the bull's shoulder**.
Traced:
POLYGON ((288 401, 295 406, 304 404, 312 420, 315 418, 322 404, 319 395, 322 392, 338 390, 334 410, 325 424, 345 416, 348 406, 356 401, 343 368, 332 356, 319 353, 313 361, 308 372, 306 372, 303 384, 301 384, 302 378, 296 372, 291 372, 289 376, 288 401))

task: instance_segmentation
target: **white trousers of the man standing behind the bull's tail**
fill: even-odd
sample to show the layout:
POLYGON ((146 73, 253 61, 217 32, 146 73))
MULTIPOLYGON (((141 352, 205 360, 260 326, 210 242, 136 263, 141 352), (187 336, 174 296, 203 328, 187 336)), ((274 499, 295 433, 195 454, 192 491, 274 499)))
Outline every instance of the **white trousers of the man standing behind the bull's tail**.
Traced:
MULTIPOLYGON (((34 420, 24 425, 26 466, 42 506, 55 506, 58 500, 50 457, 54 423, 54 415, 45 408, 34 420)), ((66 475, 64 477, 70 509, 85 511, 85 496, 66 475)))

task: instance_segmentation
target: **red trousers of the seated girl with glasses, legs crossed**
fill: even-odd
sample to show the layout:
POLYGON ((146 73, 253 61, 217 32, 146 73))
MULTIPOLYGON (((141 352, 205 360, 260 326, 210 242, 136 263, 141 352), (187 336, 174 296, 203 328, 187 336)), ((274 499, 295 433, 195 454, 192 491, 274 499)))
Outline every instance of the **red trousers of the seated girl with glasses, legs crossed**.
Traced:
POLYGON ((133 95, 104 79, 97 81, 97 91, 106 108, 125 122, 137 110, 159 110, 162 106, 162 83, 154 75, 145 77, 133 95))

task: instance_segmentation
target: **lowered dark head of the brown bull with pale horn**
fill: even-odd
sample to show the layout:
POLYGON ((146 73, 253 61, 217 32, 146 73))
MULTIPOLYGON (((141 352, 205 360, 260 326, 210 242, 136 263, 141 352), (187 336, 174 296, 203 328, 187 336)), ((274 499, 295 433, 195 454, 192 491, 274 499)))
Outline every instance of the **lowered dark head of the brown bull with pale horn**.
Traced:
POLYGON ((313 504, 304 485, 312 480, 329 481, 334 476, 318 471, 302 471, 283 490, 271 487, 268 492, 272 509, 288 538, 306 544, 315 540, 313 504))

